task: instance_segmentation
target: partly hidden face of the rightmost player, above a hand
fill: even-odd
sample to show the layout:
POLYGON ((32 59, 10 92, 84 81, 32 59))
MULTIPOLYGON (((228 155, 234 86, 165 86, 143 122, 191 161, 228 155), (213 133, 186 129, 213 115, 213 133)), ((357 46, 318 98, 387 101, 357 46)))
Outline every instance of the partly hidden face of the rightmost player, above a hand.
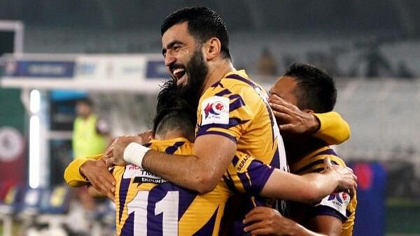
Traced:
POLYGON ((276 94, 280 98, 292 103, 293 105, 297 105, 297 98, 295 96, 295 88, 297 82, 295 79, 291 78, 290 76, 281 76, 279 80, 273 85, 271 89, 269 89, 269 96, 273 96, 276 94))

